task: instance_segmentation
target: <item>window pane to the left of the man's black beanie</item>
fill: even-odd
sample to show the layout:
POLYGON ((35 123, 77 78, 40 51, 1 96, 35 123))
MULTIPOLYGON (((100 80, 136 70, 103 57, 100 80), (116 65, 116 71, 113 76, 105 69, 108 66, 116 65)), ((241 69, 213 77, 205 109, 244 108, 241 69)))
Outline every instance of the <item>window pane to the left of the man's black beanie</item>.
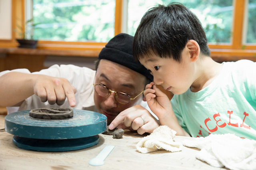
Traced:
POLYGON ((107 42, 114 37, 113 0, 33 0, 34 39, 107 42))

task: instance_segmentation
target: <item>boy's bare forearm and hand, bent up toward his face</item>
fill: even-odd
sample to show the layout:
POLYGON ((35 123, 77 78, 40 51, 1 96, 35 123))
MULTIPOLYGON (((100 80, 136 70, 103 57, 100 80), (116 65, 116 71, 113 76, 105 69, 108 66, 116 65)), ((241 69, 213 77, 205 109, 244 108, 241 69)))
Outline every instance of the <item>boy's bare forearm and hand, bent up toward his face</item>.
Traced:
POLYGON ((148 107, 158 117, 161 125, 167 125, 177 132, 179 136, 190 136, 178 123, 178 120, 172 110, 169 98, 160 89, 156 87, 154 82, 146 85, 144 96, 148 103, 148 107))

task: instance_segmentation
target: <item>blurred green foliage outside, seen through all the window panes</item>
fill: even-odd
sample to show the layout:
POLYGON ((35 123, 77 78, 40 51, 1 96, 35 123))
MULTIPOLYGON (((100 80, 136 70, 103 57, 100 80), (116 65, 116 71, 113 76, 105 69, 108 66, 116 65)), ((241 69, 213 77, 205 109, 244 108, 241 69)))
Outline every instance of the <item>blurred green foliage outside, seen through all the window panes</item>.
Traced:
MULTIPOLYGON (((108 42, 114 36, 115 0, 33 0, 34 39, 108 42)), ((233 0, 128 0, 127 33, 157 4, 180 2, 199 18, 210 44, 232 41, 233 0)), ((247 43, 256 43, 256 0, 248 0, 247 43)))

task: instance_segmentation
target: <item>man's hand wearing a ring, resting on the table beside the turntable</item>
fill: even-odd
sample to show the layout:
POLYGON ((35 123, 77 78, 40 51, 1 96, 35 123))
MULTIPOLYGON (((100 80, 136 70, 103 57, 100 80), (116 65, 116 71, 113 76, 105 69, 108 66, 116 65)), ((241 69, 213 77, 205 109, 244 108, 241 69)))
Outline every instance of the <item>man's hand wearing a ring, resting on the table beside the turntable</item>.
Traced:
POLYGON ((116 127, 137 130, 138 134, 144 134, 152 133, 159 124, 147 109, 141 105, 135 105, 119 113, 108 128, 112 130, 116 127))

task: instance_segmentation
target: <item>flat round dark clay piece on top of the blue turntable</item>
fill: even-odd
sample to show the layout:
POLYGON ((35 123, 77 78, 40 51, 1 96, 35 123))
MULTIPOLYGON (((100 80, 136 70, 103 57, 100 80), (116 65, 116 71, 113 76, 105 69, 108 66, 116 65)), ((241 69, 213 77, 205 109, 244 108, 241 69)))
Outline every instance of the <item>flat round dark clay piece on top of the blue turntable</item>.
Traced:
POLYGON ((64 108, 41 108, 32 109, 29 112, 29 116, 38 119, 66 119, 73 117, 74 113, 72 109, 64 108))

